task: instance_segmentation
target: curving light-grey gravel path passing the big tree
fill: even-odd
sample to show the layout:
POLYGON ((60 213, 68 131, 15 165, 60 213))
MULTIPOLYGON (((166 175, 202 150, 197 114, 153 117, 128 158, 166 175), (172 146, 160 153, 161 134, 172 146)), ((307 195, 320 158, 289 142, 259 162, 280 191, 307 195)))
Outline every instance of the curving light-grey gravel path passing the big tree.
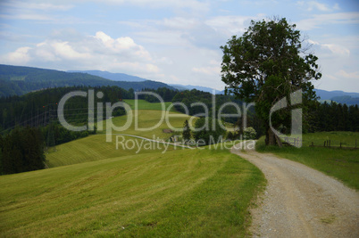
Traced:
POLYGON ((359 237, 359 193, 303 164, 253 150, 231 152, 263 171, 268 185, 251 210, 254 237, 359 237))

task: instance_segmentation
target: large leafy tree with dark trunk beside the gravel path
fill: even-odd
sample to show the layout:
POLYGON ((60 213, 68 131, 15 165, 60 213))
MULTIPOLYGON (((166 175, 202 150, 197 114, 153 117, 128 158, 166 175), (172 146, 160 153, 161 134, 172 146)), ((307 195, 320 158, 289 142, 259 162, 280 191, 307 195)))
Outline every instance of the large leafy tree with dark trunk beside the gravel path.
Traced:
MULTIPOLYGON (((232 37, 221 46, 221 80, 226 93, 236 94, 246 102, 255 102, 255 111, 263 120, 266 144, 276 144, 269 125, 271 107, 283 97, 302 89, 302 105, 315 98, 311 79, 321 78, 318 58, 302 47, 296 25, 285 18, 251 21, 242 37, 232 37)), ((290 101, 288 101, 290 102, 290 101)), ((271 118, 273 127, 290 123, 288 107, 271 118)), ((305 108, 304 108, 305 110, 305 108)))

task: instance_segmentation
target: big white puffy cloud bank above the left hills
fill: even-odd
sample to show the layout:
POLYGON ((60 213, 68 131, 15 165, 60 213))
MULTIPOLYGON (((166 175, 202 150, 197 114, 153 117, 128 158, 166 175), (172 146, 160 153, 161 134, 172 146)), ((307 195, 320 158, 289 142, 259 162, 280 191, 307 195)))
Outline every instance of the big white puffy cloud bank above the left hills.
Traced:
POLYGON ((113 38, 102 31, 71 41, 49 38, 34 47, 20 47, 0 59, 6 64, 63 70, 109 70, 135 75, 161 71, 151 54, 131 37, 113 38))

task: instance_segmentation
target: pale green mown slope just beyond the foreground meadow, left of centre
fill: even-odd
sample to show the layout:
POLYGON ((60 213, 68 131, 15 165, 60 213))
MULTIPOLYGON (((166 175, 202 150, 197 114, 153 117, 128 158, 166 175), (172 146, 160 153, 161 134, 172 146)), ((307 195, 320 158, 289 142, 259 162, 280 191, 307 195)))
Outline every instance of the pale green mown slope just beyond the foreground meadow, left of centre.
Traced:
POLYGON ((168 144, 151 143, 134 137, 112 135, 112 142, 106 142, 106 135, 88 135, 88 137, 56 145, 46 153, 46 165, 49 168, 78 164, 88 161, 104 160, 134 154, 170 152, 182 150, 168 144))

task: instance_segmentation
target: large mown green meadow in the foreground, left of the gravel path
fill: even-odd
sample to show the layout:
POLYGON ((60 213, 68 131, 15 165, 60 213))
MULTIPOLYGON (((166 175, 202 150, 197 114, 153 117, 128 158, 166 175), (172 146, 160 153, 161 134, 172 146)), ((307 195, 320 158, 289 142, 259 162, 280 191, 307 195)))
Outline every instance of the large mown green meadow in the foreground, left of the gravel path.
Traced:
POLYGON ((0 234, 244 236, 264 181, 246 160, 209 149, 0 176, 0 234))

